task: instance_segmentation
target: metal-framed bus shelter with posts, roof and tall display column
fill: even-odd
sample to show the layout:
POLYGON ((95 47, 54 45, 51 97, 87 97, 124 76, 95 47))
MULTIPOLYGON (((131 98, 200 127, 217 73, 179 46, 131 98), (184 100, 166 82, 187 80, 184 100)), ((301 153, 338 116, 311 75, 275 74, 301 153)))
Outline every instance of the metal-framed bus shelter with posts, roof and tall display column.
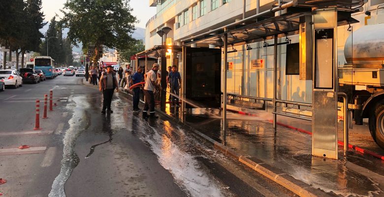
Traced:
MULTIPOLYGON (((251 48, 249 44, 255 42, 264 42, 258 47, 269 47, 270 45, 266 43, 266 40, 273 40, 273 99, 264 99, 264 101, 272 102, 273 127, 275 131, 277 115, 312 121, 314 132, 312 140, 313 155, 337 159, 337 110, 339 96, 343 97, 345 105, 348 104, 345 95, 338 93, 337 27, 358 22, 351 17, 351 14, 357 12, 363 4, 364 1, 362 0, 293 0, 216 30, 184 39, 182 40, 182 76, 187 75, 185 72, 187 70, 186 66, 189 65, 188 51, 191 50, 191 47, 207 48, 209 46, 209 48, 221 48, 223 51, 223 79, 221 86, 223 87, 223 130, 225 133, 226 104, 228 99, 226 90, 227 71, 231 66, 227 61, 228 53, 231 52, 228 51, 228 48, 230 46, 233 48, 236 45, 246 45, 246 50, 249 50, 251 48), (271 15, 275 16, 271 17, 271 15), (312 104, 283 100, 277 96, 278 46, 288 44, 288 36, 295 34, 300 35, 300 57, 298 62, 300 66, 300 79, 312 80, 313 83, 312 104), (287 37, 285 42, 278 41, 279 38, 284 37, 287 37), (312 119, 279 113, 277 112, 278 104, 312 107, 312 119)), ((260 63, 255 62, 253 64, 258 66, 260 63)), ((186 92, 185 80, 186 77, 183 78, 182 83, 182 111, 185 110, 186 103, 184 100, 186 100, 188 94, 186 92)), ((347 110, 344 110, 344 112, 345 117, 347 117, 347 110)), ((348 123, 346 120, 347 118, 344 121, 345 150, 348 149, 348 123)))

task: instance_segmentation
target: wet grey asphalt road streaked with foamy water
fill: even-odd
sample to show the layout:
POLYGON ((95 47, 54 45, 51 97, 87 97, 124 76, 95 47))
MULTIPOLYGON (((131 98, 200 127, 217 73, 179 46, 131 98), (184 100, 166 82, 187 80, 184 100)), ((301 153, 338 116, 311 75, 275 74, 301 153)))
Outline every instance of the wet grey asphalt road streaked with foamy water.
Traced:
MULTIPOLYGON (((189 131, 131 111, 115 94, 113 114, 82 77, 59 76, 0 93, 0 149, 46 147, 43 153, 0 155, 4 197, 286 197, 278 184, 238 164, 189 131), (34 100, 54 92, 57 106, 33 131, 34 100)), ((42 101, 42 99, 40 99, 42 101)), ((43 104, 41 104, 42 106, 43 104)), ((42 107, 41 107, 42 109, 42 107)))

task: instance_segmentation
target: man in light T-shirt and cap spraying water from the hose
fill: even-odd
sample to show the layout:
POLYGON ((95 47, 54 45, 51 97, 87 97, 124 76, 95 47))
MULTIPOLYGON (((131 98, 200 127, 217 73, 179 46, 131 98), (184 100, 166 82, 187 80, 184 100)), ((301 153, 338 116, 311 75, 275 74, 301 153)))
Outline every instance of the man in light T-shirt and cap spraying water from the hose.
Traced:
POLYGON ((148 118, 147 111, 150 110, 149 118, 159 118, 155 115, 155 97, 154 97, 154 90, 155 87, 159 88, 161 91, 161 86, 156 84, 156 73, 159 71, 159 64, 155 63, 152 67, 152 70, 147 72, 145 74, 145 86, 144 86, 144 97, 145 97, 145 104, 143 109, 143 118, 148 118))

